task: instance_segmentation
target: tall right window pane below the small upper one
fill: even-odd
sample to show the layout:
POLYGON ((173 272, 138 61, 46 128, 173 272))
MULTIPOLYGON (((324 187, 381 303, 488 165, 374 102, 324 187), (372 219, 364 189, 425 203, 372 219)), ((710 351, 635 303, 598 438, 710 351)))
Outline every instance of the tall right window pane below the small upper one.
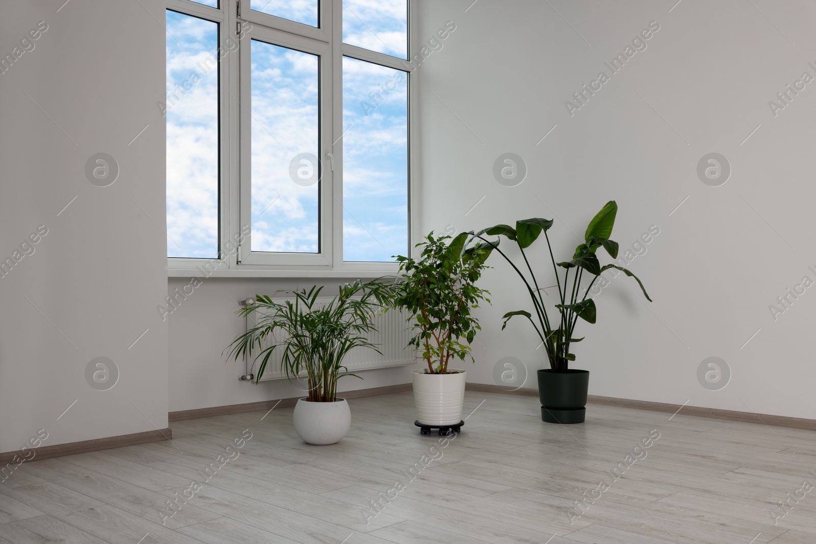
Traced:
POLYGON ((408 74, 343 58, 343 259, 408 251, 408 74))

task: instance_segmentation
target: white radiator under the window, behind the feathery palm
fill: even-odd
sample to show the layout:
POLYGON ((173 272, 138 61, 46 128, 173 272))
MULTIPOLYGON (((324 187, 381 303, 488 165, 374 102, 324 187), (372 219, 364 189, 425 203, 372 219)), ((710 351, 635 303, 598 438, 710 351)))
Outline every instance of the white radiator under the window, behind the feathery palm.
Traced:
MULTIPOLYGON (((286 299, 273 299, 275 302, 283 303, 286 299)), ((317 299, 318 304, 330 303, 331 297, 320 297, 317 299)), ((257 312, 252 312, 246 316, 247 329, 255 326, 257 312)), ((359 370, 370 369, 384 369, 392 366, 414 365, 416 362, 416 352, 412 347, 408 347, 408 340, 411 334, 409 324, 406 321, 408 313, 402 310, 388 310, 388 313, 375 316, 374 324, 377 327, 377 332, 369 334, 367 339, 370 343, 375 344, 382 355, 375 352, 370 347, 355 347, 348 355, 345 356, 343 364, 348 368, 348 372, 356 373, 359 370)), ((278 338, 280 333, 276 331, 278 338)), ((267 347, 270 343, 264 343, 267 347)), ((255 360, 255 349, 252 350, 253 355, 250 357, 250 364, 255 360)), ((286 372, 281 369, 281 357, 283 355, 283 348, 276 347, 272 356, 269 357, 269 362, 264 370, 264 376, 260 378, 261 382, 267 380, 275 380, 286 378, 286 372)), ((263 359, 263 358, 262 358, 263 359)), ((260 360, 252 367, 251 372, 257 373, 260 360)), ((294 378, 293 378, 294 379, 294 378)))

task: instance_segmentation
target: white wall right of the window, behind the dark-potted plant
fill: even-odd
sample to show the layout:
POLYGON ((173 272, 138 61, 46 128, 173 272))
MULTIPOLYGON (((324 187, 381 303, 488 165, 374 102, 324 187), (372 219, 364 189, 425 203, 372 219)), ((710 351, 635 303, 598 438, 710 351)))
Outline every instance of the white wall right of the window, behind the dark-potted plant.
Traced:
MULTIPOLYGON (((579 243, 570 230, 583 236, 614 199, 613 239, 622 248, 660 228, 630 265, 654 303, 647 309, 623 276, 598 296, 598 322, 580 325, 587 339, 574 347, 574 367, 592 372, 590 393, 816 418, 816 288, 777 321, 769 312, 802 276, 816 281, 808 269, 816 269, 816 83, 776 117, 768 104, 803 72, 816 77, 808 64, 816 64, 816 7, 675 3, 423 2, 421 37, 446 20, 457 25, 419 69, 424 231, 556 219, 552 239, 566 260, 579 243), (653 20, 660 29, 645 51, 570 117, 565 100, 653 20), (491 172, 508 152, 529 168, 517 187, 491 172), (707 153, 733 168, 720 187, 698 179, 707 153), (733 373, 720 391, 698 383, 709 356, 733 373)), ((531 254, 540 281, 552 285, 545 250, 542 240, 531 254)), ((536 387, 539 340, 521 321, 499 330, 504 312, 529 306, 525 291, 506 264, 491 263, 484 286, 494 302, 481 312, 478 337, 486 349, 477 349, 470 380, 494 383, 496 361, 515 356, 530 369, 526 387, 536 387)))

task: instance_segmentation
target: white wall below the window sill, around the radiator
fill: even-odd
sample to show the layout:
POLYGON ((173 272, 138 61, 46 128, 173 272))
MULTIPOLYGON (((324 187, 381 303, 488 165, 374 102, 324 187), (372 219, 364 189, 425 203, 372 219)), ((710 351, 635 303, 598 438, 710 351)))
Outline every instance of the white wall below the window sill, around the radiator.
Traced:
MULTIPOLYGON (((171 278, 168 294, 176 288, 181 290, 189 281, 189 278, 171 278)), ((255 297, 255 294, 271 295, 276 290, 308 289, 312 285, 326 285, 322 294, 331 296, 337 293, 337 285, 345 281, 353 279, 292 281, 210 277, 204 280, 167 316, 170 411, 304 396, 302 386, 290 384, 285 379, 259 384, 238 381, 238 377, 246 372, 245 363, 240 359, 226 360, 222 355, 233 338, 245 330, 245 318, 235 314, 237 302, 255 297)), ((363 379, 341 378, 338 391, 410 383, 411 367, 362 371, 357 374, 363 379)))

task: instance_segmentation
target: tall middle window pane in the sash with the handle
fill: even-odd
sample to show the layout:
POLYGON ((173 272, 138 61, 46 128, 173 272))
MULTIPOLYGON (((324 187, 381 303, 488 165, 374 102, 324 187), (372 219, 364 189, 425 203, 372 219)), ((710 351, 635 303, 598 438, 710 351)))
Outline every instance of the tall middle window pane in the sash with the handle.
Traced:
POLYGON ((252 40, 252 250, 320 250, 319 60, 252 40))

